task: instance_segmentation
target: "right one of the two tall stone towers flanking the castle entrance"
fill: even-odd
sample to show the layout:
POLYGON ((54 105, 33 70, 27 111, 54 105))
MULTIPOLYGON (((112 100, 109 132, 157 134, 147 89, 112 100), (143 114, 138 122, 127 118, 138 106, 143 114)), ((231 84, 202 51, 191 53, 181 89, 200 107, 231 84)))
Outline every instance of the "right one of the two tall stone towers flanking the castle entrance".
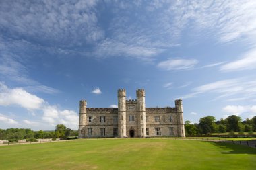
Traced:
POLYGON ((138 120, 138 136, 146 137, 146 108, 145 108, 145 90, 137 89, 137 120, 138 120))

